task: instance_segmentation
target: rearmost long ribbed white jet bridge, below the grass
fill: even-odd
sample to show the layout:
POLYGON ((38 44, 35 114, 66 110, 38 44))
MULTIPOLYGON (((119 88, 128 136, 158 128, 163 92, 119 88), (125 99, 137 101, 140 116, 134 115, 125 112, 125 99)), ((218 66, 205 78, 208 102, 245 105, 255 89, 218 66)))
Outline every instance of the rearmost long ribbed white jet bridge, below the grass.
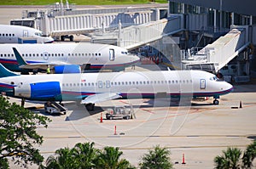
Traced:
MULTIPOLYGON (((44 32, 45 35, 61 38, 75 34, 86 34, 93 31, 113 29, 119 24, 123 26, 140 25, 160 20, 165 16, 162 11, 165 5, 145 5, 144 7, 86 8, 71 10, 69 8, 49 9, 40 12, 27 12, 22 19, 11 20, 11 25, 26 25, 44 32)), ((69 37, 73 40, 73 36, 69 37)))

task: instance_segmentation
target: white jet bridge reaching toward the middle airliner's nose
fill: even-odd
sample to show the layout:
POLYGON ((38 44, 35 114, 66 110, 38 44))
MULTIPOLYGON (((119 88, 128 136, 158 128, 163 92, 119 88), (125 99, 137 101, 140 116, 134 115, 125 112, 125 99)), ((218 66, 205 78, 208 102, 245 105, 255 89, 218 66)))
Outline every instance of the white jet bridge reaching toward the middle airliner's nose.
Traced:
POLYGON ((121 27, 119 23, 118 30, 94 33, 91 35, 91 42, 114 44, 131 50, 183 31, 183 18, 177 14, 142 25, 131 25, 123 29, 121 27))

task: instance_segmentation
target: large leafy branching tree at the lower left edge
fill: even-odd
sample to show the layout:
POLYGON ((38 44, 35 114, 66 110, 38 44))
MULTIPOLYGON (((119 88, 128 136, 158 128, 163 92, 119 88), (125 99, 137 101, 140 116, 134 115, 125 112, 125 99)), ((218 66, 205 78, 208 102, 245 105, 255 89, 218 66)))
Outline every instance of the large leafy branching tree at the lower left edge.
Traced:
POLYGON ((23 167, 32 163, 40 165, 44 157, 33 146, 41 145, 43 137, 36 129, 37 126, 48 127, 49 118, 34 114, 18 104, 10 104, 2 96, 0 112, 0 166, 8 168, 9 157, 23 167))

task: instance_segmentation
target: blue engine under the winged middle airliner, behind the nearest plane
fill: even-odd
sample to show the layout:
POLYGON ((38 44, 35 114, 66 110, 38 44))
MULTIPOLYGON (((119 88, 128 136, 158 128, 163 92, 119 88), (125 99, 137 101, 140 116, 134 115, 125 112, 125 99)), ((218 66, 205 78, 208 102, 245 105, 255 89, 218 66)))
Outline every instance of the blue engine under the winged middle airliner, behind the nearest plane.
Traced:
POLYGON ((81 73, 81 67, 79 65, 55 65, 54 73, 81 73))

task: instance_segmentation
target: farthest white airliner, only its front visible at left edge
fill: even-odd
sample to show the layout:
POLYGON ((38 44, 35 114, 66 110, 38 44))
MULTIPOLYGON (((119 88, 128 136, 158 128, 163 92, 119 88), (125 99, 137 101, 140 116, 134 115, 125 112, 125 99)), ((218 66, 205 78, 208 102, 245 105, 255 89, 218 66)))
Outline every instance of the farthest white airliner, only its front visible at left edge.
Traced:
POLYGON ((32 37, 38 43, 50 43, 52 37, 44 37, 43 32, 21 25, 0 25, 0 43, 19 43, 19 38, 32 37))

